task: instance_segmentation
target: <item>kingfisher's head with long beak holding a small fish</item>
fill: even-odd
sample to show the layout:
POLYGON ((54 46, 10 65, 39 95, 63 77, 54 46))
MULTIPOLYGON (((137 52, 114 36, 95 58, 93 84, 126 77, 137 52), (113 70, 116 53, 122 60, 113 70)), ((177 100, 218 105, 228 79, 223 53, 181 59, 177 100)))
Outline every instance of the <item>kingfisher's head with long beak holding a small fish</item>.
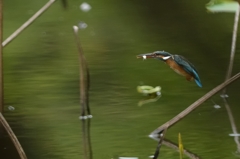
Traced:
POLYGON ((172 54, 165 52, 165 51, 154 51, 153 53, 146 53, 137 55, 137 58, 148 59, 154 58, 161 61, 166 61, 167 59, 171 58, 172 54))

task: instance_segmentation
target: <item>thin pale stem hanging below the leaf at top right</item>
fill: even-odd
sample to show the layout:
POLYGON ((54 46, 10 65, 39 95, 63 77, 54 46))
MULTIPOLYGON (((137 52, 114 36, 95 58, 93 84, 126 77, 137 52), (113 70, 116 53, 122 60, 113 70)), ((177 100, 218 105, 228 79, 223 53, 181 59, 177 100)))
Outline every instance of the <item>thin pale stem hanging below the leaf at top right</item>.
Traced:
MULTIPOLYGON (((230 61, 228 65, 228 71, 226 74, 225 80, 228 80, 231 77, 232 74, 232 68, 233 68, 233 62, 234 62, 234 55, 236 50, 236 42, 237 42, 237 30, 238 30, 238 20, 239 20, 239 13, 240 13, 240 5, 238 3, 238 10, 235 13, 234 18, 234 26, 233 26, 233 36, 232 36, 232 47, 231 47, 231 54, 230 54, 230 61)), ((223 89, 223 94, 226 94, 227 88, 225 87, 223 89)))

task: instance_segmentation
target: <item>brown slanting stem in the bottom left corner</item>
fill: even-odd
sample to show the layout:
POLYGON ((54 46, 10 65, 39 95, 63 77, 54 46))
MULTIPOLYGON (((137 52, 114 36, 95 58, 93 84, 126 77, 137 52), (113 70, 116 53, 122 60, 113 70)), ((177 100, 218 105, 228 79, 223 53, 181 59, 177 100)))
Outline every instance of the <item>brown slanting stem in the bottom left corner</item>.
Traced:
POLYGON ((26 156, 21 144, 19 143, 19 141, 18 141, 17 137, 15 136, 14 132, 12 131, 11 127, 8 125, 7 121, 3 117, 2 113, 0 113, 0 121, 1 121, 2 125, 4 126, 4 128, 6 129, 8 135, 10 136, 13 144, 15 145, 21 159, 27 159, 27 156, 26 156))

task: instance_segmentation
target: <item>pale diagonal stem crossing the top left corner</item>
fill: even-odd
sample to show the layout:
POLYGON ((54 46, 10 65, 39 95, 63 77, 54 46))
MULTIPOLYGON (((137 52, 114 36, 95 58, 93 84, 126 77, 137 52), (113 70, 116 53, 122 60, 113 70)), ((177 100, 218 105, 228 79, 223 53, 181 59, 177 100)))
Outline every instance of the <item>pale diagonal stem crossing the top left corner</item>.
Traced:
POLYGON ((12 33, 4 42, 2 46, 9 44, 14 38, 18 36, 24 29, 26 29, 34 20, 36 20, 44 11, 46 11, 55 0, 49 0, 39 11, 37 11, 28 21, 26 21, 22 26, 20 26, 14 33, 12 33))

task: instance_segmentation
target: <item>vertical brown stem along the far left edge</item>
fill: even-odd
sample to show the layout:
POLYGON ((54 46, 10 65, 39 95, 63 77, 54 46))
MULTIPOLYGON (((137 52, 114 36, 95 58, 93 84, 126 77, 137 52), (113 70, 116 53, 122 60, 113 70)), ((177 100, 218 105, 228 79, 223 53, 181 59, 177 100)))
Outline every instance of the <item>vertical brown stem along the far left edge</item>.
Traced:
MULTIPOLYGON (((2 11, 2 0, 0 0, 0 44, 2 44, 2 22, 3 22, 3 11, 2 11)), ((3 112, 3 52, 2 45, 0 45, 0 112, 3 112)))

